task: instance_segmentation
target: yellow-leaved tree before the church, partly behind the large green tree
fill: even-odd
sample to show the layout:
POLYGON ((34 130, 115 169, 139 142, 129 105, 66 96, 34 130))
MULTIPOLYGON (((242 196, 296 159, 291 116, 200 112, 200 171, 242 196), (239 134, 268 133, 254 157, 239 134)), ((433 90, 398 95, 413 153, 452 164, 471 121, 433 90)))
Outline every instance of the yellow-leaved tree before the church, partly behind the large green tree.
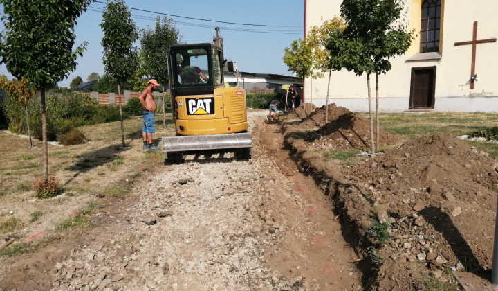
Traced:
POLYGON ((320 26, 313 26, 308 33, 308 42, 313 47, 315 58, 317 60, 317 69, 322 72, 329 71, 329 84, 327 85, 326 96, 326 114, 325 122, 329 122, 329 93, 332 71, 339 71, 342 69, 342 51, 335 51, 334 54, 326 49, 329 38, 341 39, 342 32, 346 25, 344 20, 340 17, 333 17, 331 20, 326 20, 320 26))

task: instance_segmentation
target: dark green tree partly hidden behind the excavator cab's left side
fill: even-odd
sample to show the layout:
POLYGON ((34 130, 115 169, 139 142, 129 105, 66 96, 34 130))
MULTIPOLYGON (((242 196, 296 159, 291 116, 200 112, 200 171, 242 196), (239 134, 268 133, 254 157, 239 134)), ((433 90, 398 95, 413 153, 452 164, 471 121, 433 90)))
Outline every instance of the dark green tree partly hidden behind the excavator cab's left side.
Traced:
POLYGON ((142 59, 144 62, 145 73, 148 77, 158 80, 163 84, 163 126, 166 127, 165 114, 165 85, 168 82, 167 56, 169 46, 178 44, 180 38, 178 30, 175 28, 173 19, 164 17, 156 18, 156 28, 150 27, 142 30, 142 59))

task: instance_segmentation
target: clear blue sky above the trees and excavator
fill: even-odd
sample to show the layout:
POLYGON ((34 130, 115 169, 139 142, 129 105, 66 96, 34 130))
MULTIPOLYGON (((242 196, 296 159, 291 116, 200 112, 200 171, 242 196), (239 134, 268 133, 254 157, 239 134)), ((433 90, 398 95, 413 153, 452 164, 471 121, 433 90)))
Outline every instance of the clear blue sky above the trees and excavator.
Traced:
MULTIPOLYGON (((91 3, 89 9, 77 19, 76 44, 88 44, 83 57, 77 59, 75 71, 59 82, 59 86, 69 87, 76 76, 86 81, 90 73, 104 73, 100 44, 103 33, 99 24, 106 2, 98 0, 91 3)), ((293 75, 287 70, 282 57, 284 48, 303 37, 302 0, 125 0, 125 3, 131 8, 131 18, 139 29, 147 26, 154 29, 156 17, 167 16, 176 21, 182 42, 198 43, 212 42, 214 27, 219 26, 224 39, 225 58, 237 62, 239 71, 293 75)), ((3 10, 2 6, 0 8, 3 10)), ((0 67, 0 73, 12 78, 5 65, 0 67)))

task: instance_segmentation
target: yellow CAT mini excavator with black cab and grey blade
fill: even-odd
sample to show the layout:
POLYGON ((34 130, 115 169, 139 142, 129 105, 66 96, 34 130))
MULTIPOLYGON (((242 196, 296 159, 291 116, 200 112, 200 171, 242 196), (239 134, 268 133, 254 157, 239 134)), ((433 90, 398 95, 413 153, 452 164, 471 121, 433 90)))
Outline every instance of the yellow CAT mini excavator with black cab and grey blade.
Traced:
POLYGON ((235 159, 251 159, 246 91, 225 87, 223 69, 234 62, 223 58, 223 38, 216 28, 213 43, 175 44, 167 52, 172 117, 176 136, 163 136, 168 163, 202 150, 234 152, 235 159))

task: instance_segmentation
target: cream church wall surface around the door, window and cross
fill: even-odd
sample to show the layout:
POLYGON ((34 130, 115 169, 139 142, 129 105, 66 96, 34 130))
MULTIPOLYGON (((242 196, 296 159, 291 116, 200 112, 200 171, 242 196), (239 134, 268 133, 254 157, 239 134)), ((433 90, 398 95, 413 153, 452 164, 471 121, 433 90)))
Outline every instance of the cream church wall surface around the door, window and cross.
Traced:
MULTIPOLYGON (((420 30, 422 0, 407 0, 409 17, 415 19, 410 27, 420 30)), ((306 0, 306 30, 323 20, 340 15, 340 3, 333 0, 306 0)), ((495 12, 498 1, 443 0, 441 15, 441 59, 409 60, 418 53, 420 39, 414 40, 404 55, 391 59, 392 69, 380 76, 380 107, 387 112, 409 108, 410 82, 413 67, 436 67, 434 110, 498 112, 498 42, 477 44, 476 73, 478 80, 470 89, 472 45, 454 46, 455 42, 472 40, 472 25, 478 21, 477 39, 498 37, 495 12), (469 98, 472 97, 472 98, 469 98)), ((317 106, 325 104, 329 74, 324 78, 304 82, 306 102, 313 98, 317 106), (311 83, 310 83, 311 82, 311 83), (313 90, 313 91, 311 91, 313 90)), ((371 75, 371 94, 375 96, 375 75, 371 75)), ((346 70, 333 72, 329 103, 348 107, 353 111, 367 111, 367 76, 358 77, 346 70)))

